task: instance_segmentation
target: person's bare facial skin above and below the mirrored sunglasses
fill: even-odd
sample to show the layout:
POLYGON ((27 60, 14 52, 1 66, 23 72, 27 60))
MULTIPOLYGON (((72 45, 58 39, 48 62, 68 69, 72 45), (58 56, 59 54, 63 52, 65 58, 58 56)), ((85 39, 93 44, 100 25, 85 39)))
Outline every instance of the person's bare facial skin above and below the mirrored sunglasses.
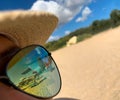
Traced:
MULTIPOLYGON (((9 40, 7 37, 3 37, 2 35, 0 35, 0 57, 2 54, 5 54, 4 52, 10 50, 13 47, 15 48, 17 47, 17 45, 15 45, 15 43, 9 40)), ((2 75, 2 72, 5 70, 6 63, 8 63, 8 61, 5 59, 3 62, 4 63, 0 61, 0 76, 2 75)), ((14 89, 12 86, 8 86, 0 82, 0 100, 43 100, 43 99, 34 98, 32 96, 29 96, 27 94, 24 94, 14 89)), ((49 100, 52 100, 52 99, 49 99, 49 100)))

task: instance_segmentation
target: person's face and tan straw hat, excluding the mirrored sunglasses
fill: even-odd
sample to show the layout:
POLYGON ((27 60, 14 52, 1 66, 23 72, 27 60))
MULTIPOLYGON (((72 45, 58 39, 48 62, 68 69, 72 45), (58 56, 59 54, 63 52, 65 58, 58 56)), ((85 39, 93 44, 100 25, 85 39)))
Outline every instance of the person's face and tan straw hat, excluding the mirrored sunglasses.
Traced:
MULTIPOLYGON (((54 31, 57 23, 58 18, 47 12, 22 10, 0 12, 0 100, 42 100, 34 94, 28 95, 29 93, 24 93, 25 91, 19 91, 17 87, 11 85, 14 83, 9 82, 8 77, 5 76, 6 70, 12 70, 12 64, 25 54, 16 56, 9 68, 6 69, 6 66, 21 48, 27 48, 33 44, 43 45, 54 31)), ((24 53, 29 52, 28 50, 32 51, 26 49, 24 53)), ((23 67, 22 62, 21 67, 23 67)), ((20 70, 19 68, 18 72, 20 70)), ((49 96, 42 98, 51 99, 49 96)))

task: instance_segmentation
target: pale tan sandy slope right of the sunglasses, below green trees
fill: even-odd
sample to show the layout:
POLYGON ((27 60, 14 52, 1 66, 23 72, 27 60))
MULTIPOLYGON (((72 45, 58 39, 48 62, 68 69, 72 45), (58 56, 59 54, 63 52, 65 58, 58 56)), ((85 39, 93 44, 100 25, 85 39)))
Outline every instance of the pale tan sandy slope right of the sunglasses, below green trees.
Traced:
POLYGON ((62 77, 55 100, 120 100, 120 27, 52 55, 62 77))

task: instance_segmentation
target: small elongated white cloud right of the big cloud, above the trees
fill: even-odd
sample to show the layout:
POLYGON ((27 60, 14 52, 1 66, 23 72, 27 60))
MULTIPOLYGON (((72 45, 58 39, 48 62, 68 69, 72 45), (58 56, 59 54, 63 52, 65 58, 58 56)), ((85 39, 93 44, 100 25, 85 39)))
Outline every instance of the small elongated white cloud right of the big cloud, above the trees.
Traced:
POLYGON ((82 11, 82 17, 78 17, 76 19, 76 22, 85 21, 91 13, 92 13, 91 9, 88 7, 85 7, 84 10, 82 11))

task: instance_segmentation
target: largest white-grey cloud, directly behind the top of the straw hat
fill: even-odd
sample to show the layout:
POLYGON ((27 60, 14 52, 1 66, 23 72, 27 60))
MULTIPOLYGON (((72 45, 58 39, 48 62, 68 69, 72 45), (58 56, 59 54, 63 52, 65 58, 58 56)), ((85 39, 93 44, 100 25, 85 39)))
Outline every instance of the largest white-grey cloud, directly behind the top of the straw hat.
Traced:
POLYGON ((59 25, 72 20, 92 0, 37 0, 31 10, 47 11, 59 17, 59 25))

